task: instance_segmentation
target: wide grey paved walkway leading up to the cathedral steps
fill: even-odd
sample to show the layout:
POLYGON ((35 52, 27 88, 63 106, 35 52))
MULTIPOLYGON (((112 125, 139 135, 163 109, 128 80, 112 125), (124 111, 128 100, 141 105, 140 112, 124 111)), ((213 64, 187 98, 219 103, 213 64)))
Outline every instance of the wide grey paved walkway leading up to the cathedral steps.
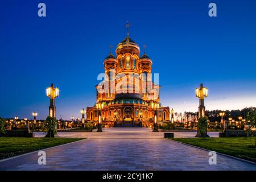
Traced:
MULTIPOLYGON (((40 137, 42 134, 37 135, 40 137)), ((146 128, 105 129, 103 133, 59 133, 59 136, 86 136, 88 139, 44 150, 46 165, 39 165, 38 152, 32 152, 2 160, 0 169, 256 170, 253 164, 222 155, 217 155, 216 165, 210 165, 208 151, 164 139, 163 133, 152 133, 146 128)))

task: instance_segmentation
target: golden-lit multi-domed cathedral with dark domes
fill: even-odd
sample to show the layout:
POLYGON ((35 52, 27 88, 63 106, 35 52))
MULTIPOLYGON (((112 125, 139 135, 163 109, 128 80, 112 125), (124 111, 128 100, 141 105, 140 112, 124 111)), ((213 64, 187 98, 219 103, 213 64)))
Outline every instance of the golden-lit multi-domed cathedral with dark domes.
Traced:
POLYGON ((87 122, 101 122, 104 127, 152 127, 156 118, 158 123, 170 121, 170 108, 160 104, 152 60, 145 51, 141 57, 139 54, 140 48, 127 30, 115 49, 116 56, 110 51, 104 60, 104 79, 96 85, 96 104, 86 108, 87 122))

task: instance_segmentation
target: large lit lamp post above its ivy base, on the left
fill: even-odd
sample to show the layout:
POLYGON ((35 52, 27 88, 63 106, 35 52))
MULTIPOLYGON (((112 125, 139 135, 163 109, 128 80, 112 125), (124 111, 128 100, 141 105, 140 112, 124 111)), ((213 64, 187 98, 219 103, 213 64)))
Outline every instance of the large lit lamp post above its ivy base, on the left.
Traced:
POLYGON ((59 89, 52 84, 46 89, 46 96, 50 98, 49 117, 56 118, 55 98, 59 97, 59 89))

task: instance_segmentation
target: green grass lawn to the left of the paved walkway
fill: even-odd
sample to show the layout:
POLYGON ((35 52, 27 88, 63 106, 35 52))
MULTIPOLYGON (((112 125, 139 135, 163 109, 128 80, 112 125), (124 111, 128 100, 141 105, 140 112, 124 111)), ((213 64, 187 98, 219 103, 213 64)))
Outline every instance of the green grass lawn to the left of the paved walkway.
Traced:
POLYGON ((0 159, 25 154, 60 144, 75 142, 84 138, 23 138, 0 137, 0 159))

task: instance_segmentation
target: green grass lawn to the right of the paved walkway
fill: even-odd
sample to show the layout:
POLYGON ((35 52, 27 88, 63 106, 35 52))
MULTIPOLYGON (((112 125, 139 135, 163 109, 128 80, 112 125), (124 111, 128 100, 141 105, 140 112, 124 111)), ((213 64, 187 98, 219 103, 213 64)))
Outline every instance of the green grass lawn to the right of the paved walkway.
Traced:
POLYGON ((170 139, 256 162, 255 137, 170 139))

